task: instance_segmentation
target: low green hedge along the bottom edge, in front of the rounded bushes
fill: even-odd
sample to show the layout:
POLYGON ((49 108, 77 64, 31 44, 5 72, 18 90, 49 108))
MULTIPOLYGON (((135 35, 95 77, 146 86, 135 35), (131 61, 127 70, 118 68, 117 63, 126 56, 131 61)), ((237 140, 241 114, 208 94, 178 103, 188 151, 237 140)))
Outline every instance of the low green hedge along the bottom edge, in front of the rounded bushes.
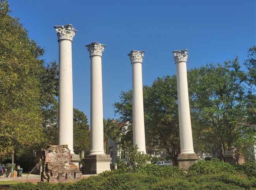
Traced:
MULTIPOLYGON (((158 167, 160 168, 160 167, 158 167)), ((92 189, 92 190, 105 190, 105 189, 142 189, 142 190, 158 190, 158 189, 253 189, 256 187, 256 180, 246 179, 239 175, 219 173, 219 174, 208 174, 194 177, 184 177, 183 175, 169 175, 161 176, 157 175, 158 172, 148 170, 147 173, 144 170, 143 173, 136 172, 116 172, 108 171, 104 175, 99 174, 98 176, 81 179, 76 182, 69 183, 39 183, 37 185, 32 183, 18 183, 11 185, 12 190, 16 189, 28 189, 28 190, 61 190, 61 189, 92 189), (151 171, 153 171, 151 173, 151 171), (108 175, 109 174, 109 175, 108 175)), ((167 173, 171 174, 171 167, 166 168, 167 173)), ((174 169, 175 170, 175 169, 174 169)), ((174 171, 172 170, 172 171, 174 171)))

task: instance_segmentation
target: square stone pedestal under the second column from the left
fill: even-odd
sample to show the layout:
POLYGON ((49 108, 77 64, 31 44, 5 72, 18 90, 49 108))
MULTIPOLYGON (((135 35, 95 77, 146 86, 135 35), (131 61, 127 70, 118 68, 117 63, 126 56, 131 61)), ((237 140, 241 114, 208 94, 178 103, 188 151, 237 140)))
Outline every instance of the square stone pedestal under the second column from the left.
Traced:
POLYGON ((110 170, 110 162, 112 158, 106 154, 87 155, 84 156, 83 174, 99 174, 103 171, 110 170))

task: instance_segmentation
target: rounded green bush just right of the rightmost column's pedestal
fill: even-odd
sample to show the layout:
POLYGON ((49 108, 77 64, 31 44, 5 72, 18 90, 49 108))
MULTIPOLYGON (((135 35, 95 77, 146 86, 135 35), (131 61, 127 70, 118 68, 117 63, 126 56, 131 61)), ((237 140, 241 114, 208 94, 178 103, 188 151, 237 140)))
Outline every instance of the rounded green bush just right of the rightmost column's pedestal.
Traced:
POLYGON ((218 161, 197 161, 188 169, 188 177, 206 174, 237 174, 234 166, 225 162, 218 161))

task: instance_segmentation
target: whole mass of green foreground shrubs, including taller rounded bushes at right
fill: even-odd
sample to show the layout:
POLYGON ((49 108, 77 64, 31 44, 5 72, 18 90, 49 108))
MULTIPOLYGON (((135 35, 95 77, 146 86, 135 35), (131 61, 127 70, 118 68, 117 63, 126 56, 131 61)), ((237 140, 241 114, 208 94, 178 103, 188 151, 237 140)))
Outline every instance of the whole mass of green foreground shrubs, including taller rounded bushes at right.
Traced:
MULTIPOLYGON (((248 166, 249 165, 249 166, 248 166)), ((245 167, 246 166, 246 167, 245 167)), ((253 165, 245 169, 223 162, 199 161, 193 164, 185 174, 177 167, 158 167, 147 165, 143 169, 106 171, 97 176, 69 183, 17 183, 12 190, 108 190, 108 189, 141 189, 141 190, 194 190, 194 189, 255 189, 256 178, 253 177, 253 165), (249 171, 250 174, 246 173, 249 171), (248 175, 249 177, 247 177, 248 175)))

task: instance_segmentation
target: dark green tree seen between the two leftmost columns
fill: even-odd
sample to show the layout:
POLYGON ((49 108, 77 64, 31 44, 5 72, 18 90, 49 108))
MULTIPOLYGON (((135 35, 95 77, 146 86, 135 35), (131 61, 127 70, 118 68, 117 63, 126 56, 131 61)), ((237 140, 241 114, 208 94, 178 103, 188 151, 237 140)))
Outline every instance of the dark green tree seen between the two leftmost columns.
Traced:
POLYGON ((82 111, 73 108, 74 152, 76 154, 90 150, 90 133, 87 123, 87 116, 82 111))

